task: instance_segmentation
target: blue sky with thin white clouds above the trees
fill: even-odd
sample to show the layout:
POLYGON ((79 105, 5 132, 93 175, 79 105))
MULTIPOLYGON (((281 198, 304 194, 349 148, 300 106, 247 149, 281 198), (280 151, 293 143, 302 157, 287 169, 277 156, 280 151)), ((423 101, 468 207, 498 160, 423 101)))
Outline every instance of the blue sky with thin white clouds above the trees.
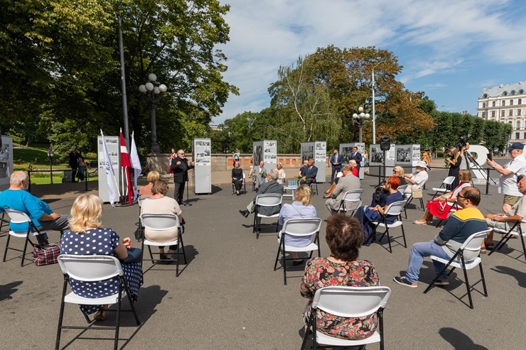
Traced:
POLYGON ((220 0, 229 4, 225 81, 230 95, 213 124, 270 105, 280 65, 328 45, 390 50, 397 80, 440 111, 476 115, 483 87, 526 80, 524 0, 220 0))

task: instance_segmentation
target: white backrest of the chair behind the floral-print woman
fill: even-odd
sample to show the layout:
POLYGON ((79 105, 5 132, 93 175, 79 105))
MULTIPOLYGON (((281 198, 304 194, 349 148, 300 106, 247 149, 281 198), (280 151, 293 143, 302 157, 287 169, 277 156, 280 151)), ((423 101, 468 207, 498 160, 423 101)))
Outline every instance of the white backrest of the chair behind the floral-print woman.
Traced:
POLYGON ((340 317, 364 317, 387 305, 389 287, 333 286, 316 290, 312 307, 340 317))

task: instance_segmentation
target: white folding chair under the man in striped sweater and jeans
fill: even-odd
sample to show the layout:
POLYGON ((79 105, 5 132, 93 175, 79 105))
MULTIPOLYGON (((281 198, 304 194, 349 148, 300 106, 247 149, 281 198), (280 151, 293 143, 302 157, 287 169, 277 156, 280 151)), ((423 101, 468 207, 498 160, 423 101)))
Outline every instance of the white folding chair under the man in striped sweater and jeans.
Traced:
MULTIPOLYGON (((466 283, 466 288, 468 289, 469 307, 471 309, 473 309, 473 300, 471 300, 471 290, 474 289, 474 287, 475 287, 475 285, 477 283, 482 282, 482 285, 483 285, 483 288, 484 288, 484 296, 487 297, 488 296, 488 290, 485 288, 485 278, 484 278, 484 273, 483 273, 483 270, 482 270, 481 257, 477 256, 473 260, 466 262, 466 260, 464 259, 464 251, 480 252, 481 251, 481 244, 484 241, 485 237, 488 236, 488 232, 489 231, 491 231, 491 229, 480 231, 480 232, 477 232, 476 234, 472 234, 471 236, 469 236, 469 238, 466 239, 466 241, 462 244, 462 246, 460 248, 458 248, 458 251, 456 251, 456 253, 453 256, 453 258, 451 258, 449 260, 446 260, 444 258, 439 258, 438 256, 430 256, 431 260, 439 261, 439 262, 444 263, 446 265, 436 275, 436 277, 429 284, 429 286, 426 288, 426 290, 424 290, 424 294, 428 290, 430 290, 431 287, 434 286, 434 283, 436 282, 436 280, 438 280, 440 278, 442 273, 444 273, 444 271, 449 266, 453 266, 453 268, 451 268, 451 271, 449 271, 448 275, 451 275, 451 273, 453 272, 453 270, 455 270, 455 268, 461 268, 463 270, 464 279, 465 279, 463 283, 466 283), (460 260, 458 259, 458 257, 460 257, 460 260), (468 270, 471 270, 472 268, 475 268, 476 266, 479 266, 479 268, 481 269, 481 279, 476 281, 476 283, 473 283, 472 285, 470 285, 469 281, 468 281, 468 270)), ((459 300, 460 300, 460 298, 459 298, 459 300)))

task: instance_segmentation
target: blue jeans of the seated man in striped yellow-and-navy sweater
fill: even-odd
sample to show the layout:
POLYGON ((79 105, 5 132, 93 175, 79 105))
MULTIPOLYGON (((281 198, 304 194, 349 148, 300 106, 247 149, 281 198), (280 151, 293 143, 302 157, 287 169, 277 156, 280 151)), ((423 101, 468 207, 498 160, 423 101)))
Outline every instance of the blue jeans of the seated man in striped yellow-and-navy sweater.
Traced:
MULTIPOLYGON (((435 241, 429 242, 420 242, 415 243, 411 247, 411 252, 409 253, 409 264, 407 265, 407 271, 405 272, 405 278, 411 283, 418 283, 418 276, 420 273, 420 267, 426 256, 437 256, 439 258, 444 258, 446 260, 451 259, 450 256, 446 254, 442 246, 439 246, 435 241)), ((444 268, 444 263, 439 263, 438 261, 433 261, 435 268, 435 275, 438 275, 439 272, 444 268)), ((448 279, 448 271, 445 270, 444 273, 440 276, 439 280, 448 279)))

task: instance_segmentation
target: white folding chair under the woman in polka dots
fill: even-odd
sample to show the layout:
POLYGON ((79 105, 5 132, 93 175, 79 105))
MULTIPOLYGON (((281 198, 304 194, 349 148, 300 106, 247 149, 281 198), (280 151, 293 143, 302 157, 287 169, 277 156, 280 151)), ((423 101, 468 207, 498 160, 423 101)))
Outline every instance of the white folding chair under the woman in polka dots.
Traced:
POLYGON ((62 329, 115 329, 114 349, 117 350, 117 346, 119 345, 119 324, 121 311, 133 312, 137 325, 141 323, 139 322, 139 317, 137 317, 132 295, 130 295, 126 279, 124 278, 124 271, 122 270, 119 259, 115 258, 114 256, 77 256, 63 254, 58 256, 58 265, 64 274, 64 285, 62 289, 62 297, 60 298, 60 315, 58 317, 58 330, 55 349, 60 349, 60 334, 62 329), (115 276, 119 276, 119 292, 114 295, 98 298, 82 297, 80 295, 76 295, 74 292, 70 292, 68 295, 66 295, 66 291, 68 289, 68 278, 70 277, 82 282, 94 282, 99 280, 109 280, 109 278, 113 278, 115 276), (129 305, 131 307, 130 310, 121 309, 122 298, 125 296, 128 297, 129 305), (90 320, 90 317, 87 317, 87 315, 84 316, 86 321, 90 323, 90 326, 63 326, 64 307, 66 302, 77 305, 117 304, 117 310, 105 310, 107 312, 116 312, 115 326, 92 327, 92 320, 90 320))

